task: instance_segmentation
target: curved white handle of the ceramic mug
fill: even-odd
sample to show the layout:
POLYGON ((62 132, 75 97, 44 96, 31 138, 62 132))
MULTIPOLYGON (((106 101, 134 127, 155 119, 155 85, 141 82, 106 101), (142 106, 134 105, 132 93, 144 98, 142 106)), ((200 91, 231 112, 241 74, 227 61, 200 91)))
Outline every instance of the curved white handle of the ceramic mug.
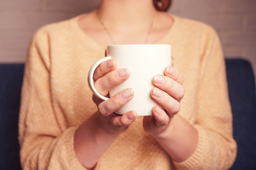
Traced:
POLYGON ((105 97, 103 95, 101 95, 95 88, 94 86, 94 81, 93 81, 93 74, 94 74, 94 71, 96 70, 96 68, 102 63, 102 62, 105 62, 107 60, 110 60, 112 59, 112 57, 110 56, 106 56, 104 58, 101 58, 99 59, 97 62, 95 62, 94 64, 92 64, 92 67, 90 68, 89 70, 89 73, 88 73, 88 85, 89 85, 89 88, 90 90, 92 91, 92 93, 94 95, 96 95, 98 98, 102 99, 102 100, 108 100, 109 98, 108 97, 105 97))

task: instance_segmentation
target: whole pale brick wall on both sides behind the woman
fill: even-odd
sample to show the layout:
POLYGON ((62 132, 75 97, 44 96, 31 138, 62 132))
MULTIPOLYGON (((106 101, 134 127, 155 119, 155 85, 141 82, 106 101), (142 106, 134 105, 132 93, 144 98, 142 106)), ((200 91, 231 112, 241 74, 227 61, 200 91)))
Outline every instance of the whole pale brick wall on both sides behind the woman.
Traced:
MULTIPOLYGON (((0 0, 0 63, 25 62, 36 29, 98 5, 99 0, 0 0)), ((255 8, 256 0, 173 0, 168 12, 210 24, 220 35, 224 55, 243 57, 256 70, 255 8)))

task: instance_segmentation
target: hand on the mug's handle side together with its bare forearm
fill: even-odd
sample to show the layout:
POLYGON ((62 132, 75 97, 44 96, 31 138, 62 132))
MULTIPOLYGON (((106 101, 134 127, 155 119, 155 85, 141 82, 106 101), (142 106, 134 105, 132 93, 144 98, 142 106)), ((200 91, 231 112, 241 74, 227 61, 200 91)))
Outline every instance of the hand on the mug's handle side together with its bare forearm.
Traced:
MULTIPOLYGON (((130 76, 128 69, 116 70, 116 62, 108 60, 101 63, 94 72, 94 86, 104 96, 108 91, 124 82, 130 76)), ((137 118, 135 111, 124 115, 114 113, 126 104, 134 93, 128 88, 110 99, 103 101, 93 95, 98 112, 81 124, 74 134, 74 151, 76 157, 87 169, 97 164, 101 155, 108 149, 117 136, 124 132, 137 118)))

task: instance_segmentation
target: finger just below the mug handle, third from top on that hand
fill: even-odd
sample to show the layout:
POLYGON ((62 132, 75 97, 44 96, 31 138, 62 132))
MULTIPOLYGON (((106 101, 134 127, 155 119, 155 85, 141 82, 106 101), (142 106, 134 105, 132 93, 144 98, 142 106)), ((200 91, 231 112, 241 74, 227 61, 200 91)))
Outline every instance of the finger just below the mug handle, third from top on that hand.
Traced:
POLYGON ((101 102, 98 105, 98 110, 103 116, 109 116, 111 113, 117 111, 121 106, 124 106, 134 96, 134 91, 131 88, 127 88, 110 97, 110 99, 101 102))

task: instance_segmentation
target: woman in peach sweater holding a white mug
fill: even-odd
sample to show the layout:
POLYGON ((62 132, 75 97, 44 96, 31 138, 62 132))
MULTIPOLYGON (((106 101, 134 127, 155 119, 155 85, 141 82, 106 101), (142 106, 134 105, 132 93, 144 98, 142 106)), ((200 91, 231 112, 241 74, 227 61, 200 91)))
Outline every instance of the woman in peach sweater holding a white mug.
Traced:
MULTIPOLYGON (((153 2, 101 0, 95 11, 36 32, 20 108, 24 170, 224 170, 232 165, 236 142, 218 36, 206 24, 157 10, 169 1, 162 1, 163 9, 153 2), (147 117, 133 110, 117 115, 132 99, 130 89, 107 101, 91 99, 86 75, 106 45, 155 43, 171 44, 175 60, 175 67, 167 66, 152 80, 156 88, 150 95, 163 110, 154 107, 147 117)), ((116 65, 108 60, 94 73, 103 95, 129 77, 116 65)))

